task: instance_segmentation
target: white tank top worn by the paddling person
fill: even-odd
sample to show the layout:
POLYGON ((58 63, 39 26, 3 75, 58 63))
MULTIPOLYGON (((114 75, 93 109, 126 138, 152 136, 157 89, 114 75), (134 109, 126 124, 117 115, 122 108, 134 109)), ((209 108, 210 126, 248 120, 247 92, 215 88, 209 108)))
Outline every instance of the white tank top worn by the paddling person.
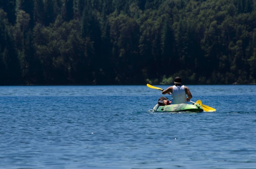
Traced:
POLYGON ((186 103, 186 92, 184 85, 173 85, 172 104, 186 103))

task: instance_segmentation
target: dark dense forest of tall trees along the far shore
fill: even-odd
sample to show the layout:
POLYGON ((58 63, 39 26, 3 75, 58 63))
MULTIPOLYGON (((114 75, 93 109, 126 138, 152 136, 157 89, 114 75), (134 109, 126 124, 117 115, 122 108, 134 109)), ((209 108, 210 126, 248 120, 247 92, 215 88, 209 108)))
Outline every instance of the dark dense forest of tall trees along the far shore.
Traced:
POLYGON ((256 84, 256 0, 1 0, 0 85, 256 84))

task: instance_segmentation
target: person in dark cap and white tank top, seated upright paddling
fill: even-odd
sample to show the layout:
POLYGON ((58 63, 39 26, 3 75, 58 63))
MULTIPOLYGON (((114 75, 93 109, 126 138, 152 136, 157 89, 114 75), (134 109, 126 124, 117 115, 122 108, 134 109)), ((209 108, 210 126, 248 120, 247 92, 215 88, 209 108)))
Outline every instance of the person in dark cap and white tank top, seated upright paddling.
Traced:
POLYGON ((181 85, 180 77, 175 77, 174 85, 162 91, 162 94, 167 93, 172 95, 172 104, 186 103, 187 101, 189 102, 192 98, 192 94, 189 91, 189 88, 187 86, 181 85))

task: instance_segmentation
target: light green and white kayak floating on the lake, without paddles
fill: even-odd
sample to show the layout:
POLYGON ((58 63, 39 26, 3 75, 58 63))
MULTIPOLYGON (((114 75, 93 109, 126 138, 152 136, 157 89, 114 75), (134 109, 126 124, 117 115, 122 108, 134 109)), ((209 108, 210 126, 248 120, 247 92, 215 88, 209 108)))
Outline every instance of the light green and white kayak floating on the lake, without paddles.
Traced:
POLYGON ((171 105, 155 105, 153 110, 155 112, 203 112, 203 108, 200 104, 171 104, 171 105))

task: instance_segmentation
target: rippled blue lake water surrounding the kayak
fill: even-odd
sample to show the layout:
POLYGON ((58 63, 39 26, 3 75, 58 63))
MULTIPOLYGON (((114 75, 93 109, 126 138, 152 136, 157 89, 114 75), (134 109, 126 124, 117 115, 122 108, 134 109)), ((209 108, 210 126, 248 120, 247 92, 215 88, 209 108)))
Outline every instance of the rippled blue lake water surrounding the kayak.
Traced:
POLYGON ((153 112, 146 85, 0 86, 0 169, 255 169, 256 86, 188 87, 217 111, 153 112))

